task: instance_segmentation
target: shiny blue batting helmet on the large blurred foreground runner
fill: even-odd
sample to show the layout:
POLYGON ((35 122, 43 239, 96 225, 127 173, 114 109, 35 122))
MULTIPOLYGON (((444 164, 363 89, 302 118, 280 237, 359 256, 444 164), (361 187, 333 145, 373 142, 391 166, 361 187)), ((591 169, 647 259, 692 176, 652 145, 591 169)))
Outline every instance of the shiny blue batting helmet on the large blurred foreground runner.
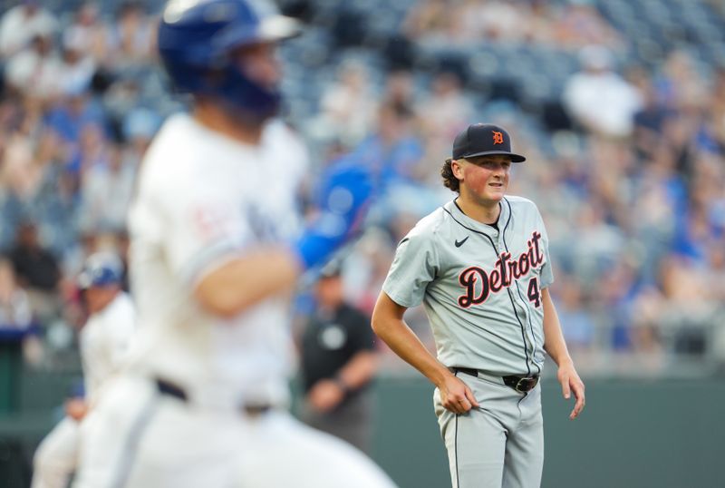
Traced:
POLYGON ((264 119, 277 111, 280 93, 249 79, 230 54, 297 32, 297 22, 276 13, 265 0, 170 0, 158 44, 179 91, 205 94, 264 119))

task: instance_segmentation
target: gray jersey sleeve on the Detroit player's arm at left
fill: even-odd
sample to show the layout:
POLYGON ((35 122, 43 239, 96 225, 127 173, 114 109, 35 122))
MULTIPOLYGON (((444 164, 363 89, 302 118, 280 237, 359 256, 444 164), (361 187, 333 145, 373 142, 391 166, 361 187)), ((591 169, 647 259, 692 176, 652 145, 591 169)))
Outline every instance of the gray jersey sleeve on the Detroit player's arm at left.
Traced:
POLYGON ((388 277, 382 285, 392 301, 408 308, 420 305, 439 268, 438 253, 431 236, 416 230, 412 229, 398 244, 388 277))

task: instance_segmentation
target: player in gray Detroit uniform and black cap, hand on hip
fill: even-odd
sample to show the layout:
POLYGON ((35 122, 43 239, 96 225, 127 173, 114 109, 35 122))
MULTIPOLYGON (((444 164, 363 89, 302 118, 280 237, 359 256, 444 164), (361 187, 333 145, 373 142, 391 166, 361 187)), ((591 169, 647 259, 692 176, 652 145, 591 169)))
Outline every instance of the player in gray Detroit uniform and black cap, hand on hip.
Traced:
POLYGON ((505 196, 511 163, 522 161, 501 127, 459 133, 441 171, 459 196, 401 240, 373 312, 378 336, 436 386, 454 487, 539 486, 545 351, 564 396, 575 395, 570 417, 585 405, 548 291, 544 221, 532 201, 505 196), (421 302, 438 358, 403 321, 421 302))

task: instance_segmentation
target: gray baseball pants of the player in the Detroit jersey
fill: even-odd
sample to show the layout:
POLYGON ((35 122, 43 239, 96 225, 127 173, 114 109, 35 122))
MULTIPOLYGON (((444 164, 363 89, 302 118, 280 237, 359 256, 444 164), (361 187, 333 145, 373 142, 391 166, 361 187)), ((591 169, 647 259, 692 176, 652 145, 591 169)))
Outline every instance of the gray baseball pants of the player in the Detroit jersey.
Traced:
POLYGON ((440 434, 449 457, 453 488, 536 488, 544 467, 541 385, 527 394, 499 376, 457 376, 473 391, 479 408, 449 412, 433 394, 440 434))

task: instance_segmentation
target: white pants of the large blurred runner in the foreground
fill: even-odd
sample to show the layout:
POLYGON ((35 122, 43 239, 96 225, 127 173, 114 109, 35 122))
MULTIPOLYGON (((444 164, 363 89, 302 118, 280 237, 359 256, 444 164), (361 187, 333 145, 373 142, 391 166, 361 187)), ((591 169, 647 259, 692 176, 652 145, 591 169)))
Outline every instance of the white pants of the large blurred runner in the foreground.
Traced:
POLYGON ((389 488, 382 470, 284 411, 243 415, 123 378, 83 438, 74 488, 389 488))

